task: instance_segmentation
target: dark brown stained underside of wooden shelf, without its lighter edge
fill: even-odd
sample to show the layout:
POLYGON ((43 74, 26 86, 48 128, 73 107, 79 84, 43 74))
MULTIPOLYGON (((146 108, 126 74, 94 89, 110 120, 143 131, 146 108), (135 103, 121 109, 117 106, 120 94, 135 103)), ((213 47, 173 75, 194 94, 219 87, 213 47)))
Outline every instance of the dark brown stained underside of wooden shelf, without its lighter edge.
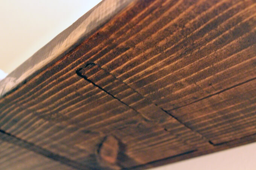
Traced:
POLYGON ((0 168, 145 169, 254 142, 255 67, 254 0, 135 1, 0 99, 0 168))

